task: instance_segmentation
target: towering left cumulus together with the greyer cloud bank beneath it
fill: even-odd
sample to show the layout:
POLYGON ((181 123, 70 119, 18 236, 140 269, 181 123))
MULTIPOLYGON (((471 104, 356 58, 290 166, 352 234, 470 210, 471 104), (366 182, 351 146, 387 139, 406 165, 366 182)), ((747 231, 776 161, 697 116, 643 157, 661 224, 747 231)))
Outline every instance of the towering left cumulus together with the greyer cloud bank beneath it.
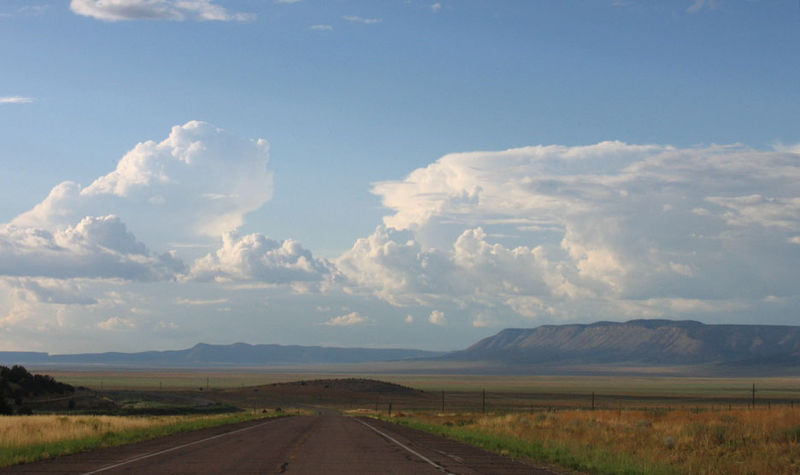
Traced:
MULTIPOLYGON (((34 300, 59 303, 96 301, 71 297, 81 287, 68 284, 72 279, 173 280, 187 269, 167 249, 214 243, 270 199, 268 160, 264 140, 203 122, 175 126, 161 142, 136 145, 111 173, 86 187, 63 182, 0 225, 0 278, 34 300)), ((286 259, 298 275, 306 270, 305 255, 286 259)), ((313 272, 315 261, 308 262, 313 272)))

